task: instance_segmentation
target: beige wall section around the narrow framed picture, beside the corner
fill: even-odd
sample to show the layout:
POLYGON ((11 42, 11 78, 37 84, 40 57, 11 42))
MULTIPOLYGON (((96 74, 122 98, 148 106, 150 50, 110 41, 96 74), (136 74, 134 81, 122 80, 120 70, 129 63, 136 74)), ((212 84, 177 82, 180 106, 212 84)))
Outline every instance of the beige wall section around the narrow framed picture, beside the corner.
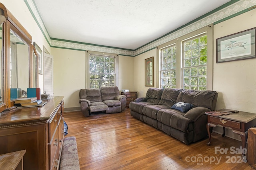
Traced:
POLYGON ((134 90, 138 97, 145 97, 148 86, 145 86, 145 59, 154 57, 154 87, 156 87, 156 49, 134 57, 134 90))

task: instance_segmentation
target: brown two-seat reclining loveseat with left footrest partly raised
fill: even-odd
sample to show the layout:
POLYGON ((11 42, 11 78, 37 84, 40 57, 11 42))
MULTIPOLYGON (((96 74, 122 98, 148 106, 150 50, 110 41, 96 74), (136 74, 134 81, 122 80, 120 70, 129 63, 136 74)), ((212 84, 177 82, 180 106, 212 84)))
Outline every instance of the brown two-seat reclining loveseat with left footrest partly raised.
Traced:
POLYGON ((99 113, 119 113, 126 106, 126 96, 120 95, 117 86, 81 89, 79 98, 84 117, 99 113))

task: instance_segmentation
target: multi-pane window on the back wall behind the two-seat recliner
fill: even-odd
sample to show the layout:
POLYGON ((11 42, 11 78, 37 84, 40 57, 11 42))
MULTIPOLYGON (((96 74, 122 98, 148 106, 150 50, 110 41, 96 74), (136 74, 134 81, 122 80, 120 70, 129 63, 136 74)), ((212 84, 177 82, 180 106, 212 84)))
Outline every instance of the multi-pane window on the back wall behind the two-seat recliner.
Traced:
POLYGON ((88 87, 100 88, 101 86, 117 86, 115 55, 104 55, 98 53, 89 53, 88 55, 89 74, 88 87))

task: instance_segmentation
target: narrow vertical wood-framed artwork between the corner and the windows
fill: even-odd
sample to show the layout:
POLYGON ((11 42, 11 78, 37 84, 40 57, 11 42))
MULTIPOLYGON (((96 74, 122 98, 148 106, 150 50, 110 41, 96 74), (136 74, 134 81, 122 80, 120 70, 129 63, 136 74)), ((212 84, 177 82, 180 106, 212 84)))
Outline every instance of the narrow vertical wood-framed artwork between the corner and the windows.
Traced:
POLYGON ((145 86, 154 86, 154 57, 145 59, 145 86))

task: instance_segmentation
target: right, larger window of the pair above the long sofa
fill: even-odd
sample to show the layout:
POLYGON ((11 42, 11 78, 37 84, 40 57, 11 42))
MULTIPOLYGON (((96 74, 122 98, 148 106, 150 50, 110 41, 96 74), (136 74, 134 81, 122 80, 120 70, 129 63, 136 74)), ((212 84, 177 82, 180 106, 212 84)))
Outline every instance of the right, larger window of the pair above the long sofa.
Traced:
POLYGON ((206 90, 206 33, 183 41, 182 49, 182 88, 192 90, 206 90))

